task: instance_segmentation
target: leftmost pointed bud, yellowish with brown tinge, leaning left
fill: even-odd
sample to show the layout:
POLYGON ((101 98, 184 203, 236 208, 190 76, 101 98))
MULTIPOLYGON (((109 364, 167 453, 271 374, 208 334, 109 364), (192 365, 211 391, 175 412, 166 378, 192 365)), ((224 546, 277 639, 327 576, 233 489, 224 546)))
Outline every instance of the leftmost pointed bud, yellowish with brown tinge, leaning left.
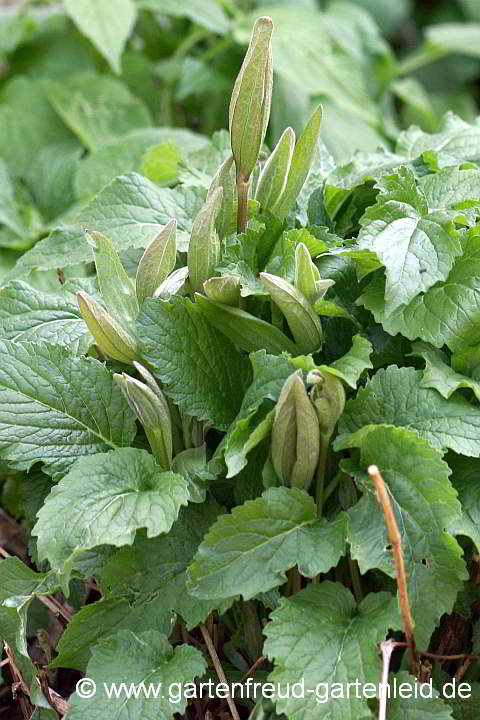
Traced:
POLYGON ((85 292, 77 293, 78 307, 104 355, 130 364, 140 359, 138 343, 101 305, 85 292))

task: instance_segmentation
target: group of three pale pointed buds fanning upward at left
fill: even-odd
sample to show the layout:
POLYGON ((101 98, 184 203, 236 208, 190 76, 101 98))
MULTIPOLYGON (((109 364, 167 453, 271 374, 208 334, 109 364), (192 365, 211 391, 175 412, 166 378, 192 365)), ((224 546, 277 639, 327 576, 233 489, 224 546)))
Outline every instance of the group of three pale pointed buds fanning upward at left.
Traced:
MULTIPOLYGON (((103 305, 86 292, 78 292, 77 301, 98 349, 112 360, 127 365, 140 360, 135 320, 145 298, 166 292, 167 285, 172 290, 176 228, 176 220, 170 220, 152 240, 140 260, 135 282, 128 277, 112 241, 102 233, 86 233, 103 305)), ((179 290, 177 283, 175 291, 179 290)))

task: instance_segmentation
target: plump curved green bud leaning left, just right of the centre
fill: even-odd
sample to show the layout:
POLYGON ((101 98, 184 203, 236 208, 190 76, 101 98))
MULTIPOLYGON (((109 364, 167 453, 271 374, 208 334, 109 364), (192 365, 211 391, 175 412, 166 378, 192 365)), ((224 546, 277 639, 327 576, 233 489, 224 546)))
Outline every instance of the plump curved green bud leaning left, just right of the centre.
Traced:
POLYGON ((260 273, 260 279, 273 302, 284 314, 299 351, 311 353, 319 350, 322 344, 322 325, 304 295, 277 275, 260 273))

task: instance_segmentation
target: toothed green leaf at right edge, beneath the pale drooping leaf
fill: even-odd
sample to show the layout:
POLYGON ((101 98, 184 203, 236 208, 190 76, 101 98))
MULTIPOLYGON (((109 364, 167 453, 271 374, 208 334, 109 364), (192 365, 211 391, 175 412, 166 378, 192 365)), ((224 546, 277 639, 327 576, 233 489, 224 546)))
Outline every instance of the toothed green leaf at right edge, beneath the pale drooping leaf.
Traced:
POLYGON ((463 255, 457 258, 448 278, 407 306, 386 313, 385 282, 376 278, 358 303, 370 310, 390 335, 402 333, 451 350, 480 343, 480 232, 472 228, 463 240, 463 255))

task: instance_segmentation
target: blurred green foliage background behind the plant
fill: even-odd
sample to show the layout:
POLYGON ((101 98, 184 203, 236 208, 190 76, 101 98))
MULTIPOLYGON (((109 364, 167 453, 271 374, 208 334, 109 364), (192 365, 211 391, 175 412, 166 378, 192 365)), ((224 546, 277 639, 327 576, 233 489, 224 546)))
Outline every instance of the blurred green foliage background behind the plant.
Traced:
POLYGON ((270 146, 318 102, 337 164, 392 149, 411 124, 434 133, 447 112, 476 122, 480 0, 8 0, 0 277, 116 175, 178 181, 185 156, 227 125, 261 14, 275 22, 270 146))

